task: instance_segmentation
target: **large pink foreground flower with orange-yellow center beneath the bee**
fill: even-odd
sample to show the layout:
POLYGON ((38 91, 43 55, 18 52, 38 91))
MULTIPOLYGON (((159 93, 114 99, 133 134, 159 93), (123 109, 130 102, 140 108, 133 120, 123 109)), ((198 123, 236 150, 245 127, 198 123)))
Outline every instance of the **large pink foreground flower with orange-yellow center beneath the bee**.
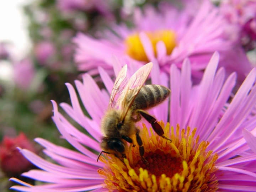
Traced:
MULTIPOLYGON (((226 103, 236 84, 236 74, 225 80, 224 68, 218 68, 219 54, 214 53, 202 81, 192 85, 192 64, 185 59, 181 70, 170 68, 170 111, 167 103, 151 111, 160 122, 166 137, 158 137, 142 122, 138 127, 144 148, 145 165, 140 160, 138 146, 130 146, 127 159, 106 155, 96 162, 101 151, 99 142, 101 118, 107 109, 113 81, 103 68, 98 68, 105 89, 99 89, 89 74, 83 82, 75 81, 76 88, 90 117, 85 116, 76 91, 67 83, 71 103, 61 103, 64 111, 91 135, 76 129, 59 111, 53 101, 53 120, 62 137, 76 150, 54 145, 45 139, 36 142, 45 147, 44 153, 54 162, 44 160, 26 149, 21 153, 42 170, 31 170, 22 175, 44 184, 32 186, 16 178, 13 186, 20 191, 256 191, 256 154, 252 139, 256 134, 256 68, 252 69, 236 92, 226 103), (167 116, 169 114, 169 123, 167 116), (177 127, 176 127, 177 126, 177 127), (247 133, 247 134, 246 134, 247 133), (248 133, 250 134, 248 136, 248 133), (243 137, 245 135, 245 137, 243 137), (250 147, 253 146, 251 151, 250 147), (96 151, 96 153, 92 152, 96 151)), ((113 63, 114 71, 120 70, 113 63)), ((151 81, 161 84, 165 73, 153 66, 151 81)), ((165 82, 165 81, 164 81, 165 82)))

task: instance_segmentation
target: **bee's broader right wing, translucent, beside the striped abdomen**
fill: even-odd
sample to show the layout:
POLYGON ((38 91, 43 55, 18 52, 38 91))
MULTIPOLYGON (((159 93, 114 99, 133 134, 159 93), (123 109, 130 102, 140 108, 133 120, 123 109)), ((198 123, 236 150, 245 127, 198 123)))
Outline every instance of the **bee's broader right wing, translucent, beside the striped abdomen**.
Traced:
POLYGON ((142 88, 144 82, 149 76, 153 63, 148 63, 141 68, 139 68, 136 73, 134 73, 124 88, 121 96, 119 97, 120 105, 122 106, 121 120, 126 116, 130 106, 132 105, 135 97, 142 88))

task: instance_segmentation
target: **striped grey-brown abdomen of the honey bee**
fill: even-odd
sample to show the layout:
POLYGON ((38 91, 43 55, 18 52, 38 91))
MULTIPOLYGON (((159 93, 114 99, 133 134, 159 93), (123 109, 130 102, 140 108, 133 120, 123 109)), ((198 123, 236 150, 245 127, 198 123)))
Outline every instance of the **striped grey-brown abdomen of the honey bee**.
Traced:
POLYGON ((170 95, 170 89, 162 85, 144 85, 135 97, 131 108, 148 109, 163 102, 170 95))

